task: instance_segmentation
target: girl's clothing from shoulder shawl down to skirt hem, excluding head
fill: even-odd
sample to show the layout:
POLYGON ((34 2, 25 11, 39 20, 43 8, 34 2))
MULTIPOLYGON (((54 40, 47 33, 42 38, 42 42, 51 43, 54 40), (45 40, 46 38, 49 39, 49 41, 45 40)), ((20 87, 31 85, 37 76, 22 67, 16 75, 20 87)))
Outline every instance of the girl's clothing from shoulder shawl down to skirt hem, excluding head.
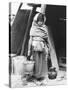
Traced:
POLYGON ((48 31, 46 25, 39 26, 34 21, 30 30, 32 38, 33 60, 35 61, 34 75, 36 78, 46 77, 47 75, 47 39, 48 31))

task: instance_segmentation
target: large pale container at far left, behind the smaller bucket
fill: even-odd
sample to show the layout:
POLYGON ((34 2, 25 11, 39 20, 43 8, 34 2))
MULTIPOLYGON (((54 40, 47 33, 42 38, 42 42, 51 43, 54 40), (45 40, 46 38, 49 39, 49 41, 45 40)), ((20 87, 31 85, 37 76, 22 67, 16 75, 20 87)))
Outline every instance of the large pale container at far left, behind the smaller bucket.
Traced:
POLYGON ((26 61, 26 57, 24 56, 16 56, 12 58, 12 73, 16 75, 24 76, 24 66, 23 63, 26 61))

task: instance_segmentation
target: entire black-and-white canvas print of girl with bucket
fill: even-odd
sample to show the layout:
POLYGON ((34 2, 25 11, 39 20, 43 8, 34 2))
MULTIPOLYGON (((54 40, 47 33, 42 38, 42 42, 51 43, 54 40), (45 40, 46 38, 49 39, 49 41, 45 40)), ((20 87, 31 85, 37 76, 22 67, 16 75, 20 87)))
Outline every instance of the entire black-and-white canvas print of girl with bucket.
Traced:
POLYGON ((9 2, 9 87, 66 85, 66 6, 9 2))

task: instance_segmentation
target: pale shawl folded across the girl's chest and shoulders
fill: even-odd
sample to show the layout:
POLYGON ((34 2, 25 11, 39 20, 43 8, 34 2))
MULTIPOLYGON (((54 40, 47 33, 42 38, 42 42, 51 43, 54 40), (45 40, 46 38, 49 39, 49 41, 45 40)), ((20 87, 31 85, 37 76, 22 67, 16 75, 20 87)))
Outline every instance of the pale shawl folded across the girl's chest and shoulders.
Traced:
POLYGON ((41 37, 41 38, 47 38, 48 37, 48 31, 47 26, 42 25, 39 26, 36 22, 32 23, 32 27, 30 29, 30 36, 34 37, 41 37))

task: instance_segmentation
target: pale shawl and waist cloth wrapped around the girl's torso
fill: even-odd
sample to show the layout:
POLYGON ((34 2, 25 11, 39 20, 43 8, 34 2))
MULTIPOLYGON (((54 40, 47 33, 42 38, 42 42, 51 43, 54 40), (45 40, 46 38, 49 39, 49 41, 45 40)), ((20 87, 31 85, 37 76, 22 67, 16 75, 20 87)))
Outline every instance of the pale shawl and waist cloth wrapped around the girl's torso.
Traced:
POLYGON ((46 25, 41 27, 34 21, 30 30, 30 36, 33 37, 32 46, 35 51, 43 51, 45 48, 45 39, 48 38, 46 25))

